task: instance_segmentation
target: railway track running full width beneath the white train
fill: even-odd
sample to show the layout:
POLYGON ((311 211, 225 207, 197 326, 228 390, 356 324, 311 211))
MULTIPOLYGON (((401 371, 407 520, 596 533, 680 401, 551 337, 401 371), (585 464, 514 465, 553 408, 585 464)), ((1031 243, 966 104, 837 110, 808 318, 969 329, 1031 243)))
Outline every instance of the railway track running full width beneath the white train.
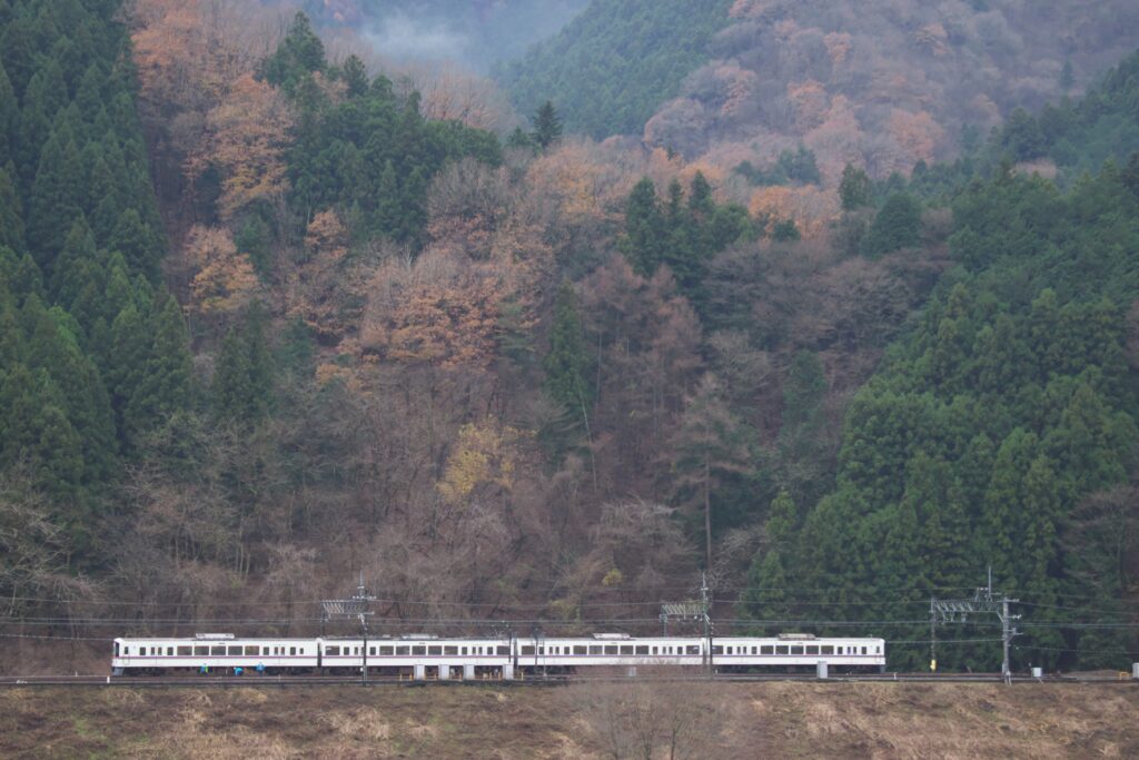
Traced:
MULTIPOLYGON (((525 679, 503 680, 427 680, 416 681, 407 678, 379 678, 369 677, 369 687, 425 687, 425 686, 494 686, 494 687, 535 687, 535 686, 559 686, 568 684, 604 684, 604 683, 629 683, 630 678, 603 677, 603 676, 528 676, 525 679)), ((654 676, 637 678, 640 683, 683 683, 683 681, 707 681, 706 676, 654 676)), ((827 679, 819 679, 811 673, 720 673, 711 680, 724 684, 759 684, 776 681, 794 683, 886 683, 886 684, 999 684, 999 673, 875 673, 875 675, 852 675, 831 676, 827 679)), ((1122 678, 1120 676, 1105 676, 1099 673, 1071 675, 1071 676, 1048 676, 1044 678, 1032 678, 1030 676, 1014 676, 1014 684, 1115 684, 1118 686, 1139 686, 1139 681, 1122 678)), ((112 678, 109 676, 14 676, 0 677, 0 688, 42 688, 42 687, 87 687, 87 688, 312 688, 327 686, 362 686, 359 678, 346 676, 161 676, 161 677, 123 677, 112 678)))

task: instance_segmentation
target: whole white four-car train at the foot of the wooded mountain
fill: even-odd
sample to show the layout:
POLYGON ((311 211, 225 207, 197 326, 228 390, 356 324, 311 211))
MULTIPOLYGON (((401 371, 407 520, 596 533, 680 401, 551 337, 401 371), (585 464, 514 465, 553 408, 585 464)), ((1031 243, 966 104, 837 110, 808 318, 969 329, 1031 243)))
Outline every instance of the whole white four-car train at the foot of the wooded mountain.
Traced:
POLYGON ((589 638, 237 638, 206 634, 195 638, 117 638, 112 673, 172 672, 368 675, 412 680, 514 680, 531 675, 576 673, 588 669, 706 668, 718 672, 814 670, 884 671, 880 638, 633 637, 595 634, 589 638), (711 644, 711 647, 710 647, 711 644))

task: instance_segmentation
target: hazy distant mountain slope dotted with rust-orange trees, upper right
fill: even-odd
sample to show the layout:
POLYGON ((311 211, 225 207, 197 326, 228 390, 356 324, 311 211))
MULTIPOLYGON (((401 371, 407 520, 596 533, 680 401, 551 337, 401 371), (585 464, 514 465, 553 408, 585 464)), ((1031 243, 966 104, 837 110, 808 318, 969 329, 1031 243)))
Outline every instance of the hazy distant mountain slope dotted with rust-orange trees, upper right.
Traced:
POLYGON ((730 13, 646 141, 724 166, 803 142, 831 181, 847 162, 886 177, 951 157, 1016 107, 1080 91, 1139 28, 1125 0, 737 0, 730 13))

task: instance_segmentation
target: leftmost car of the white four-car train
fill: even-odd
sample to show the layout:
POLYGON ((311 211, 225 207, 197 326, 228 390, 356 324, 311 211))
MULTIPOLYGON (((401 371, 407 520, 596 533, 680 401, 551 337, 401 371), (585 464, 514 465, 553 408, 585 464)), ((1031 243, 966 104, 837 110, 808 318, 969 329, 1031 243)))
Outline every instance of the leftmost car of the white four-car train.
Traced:
POLYGON ((194 638, 116 638, 113 676, 199 673, 302 675, 319 667, 317 639, 237 638, 199 634, 194 638))

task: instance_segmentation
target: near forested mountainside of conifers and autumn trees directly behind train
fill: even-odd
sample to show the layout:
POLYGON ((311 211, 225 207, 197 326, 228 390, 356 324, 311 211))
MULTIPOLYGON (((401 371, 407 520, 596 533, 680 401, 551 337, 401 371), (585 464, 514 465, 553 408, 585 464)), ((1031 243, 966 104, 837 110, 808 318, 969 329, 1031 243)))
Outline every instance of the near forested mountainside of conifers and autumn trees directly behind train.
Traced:
POLYGON ((831 177, 276 14, 0 0, 6 631, 309 630, 361 571, 386 630, 655 630, 704 569, 719 631, 902 668, 991 565, 1018 667, 1139 654, 1139 55, 831 177))

